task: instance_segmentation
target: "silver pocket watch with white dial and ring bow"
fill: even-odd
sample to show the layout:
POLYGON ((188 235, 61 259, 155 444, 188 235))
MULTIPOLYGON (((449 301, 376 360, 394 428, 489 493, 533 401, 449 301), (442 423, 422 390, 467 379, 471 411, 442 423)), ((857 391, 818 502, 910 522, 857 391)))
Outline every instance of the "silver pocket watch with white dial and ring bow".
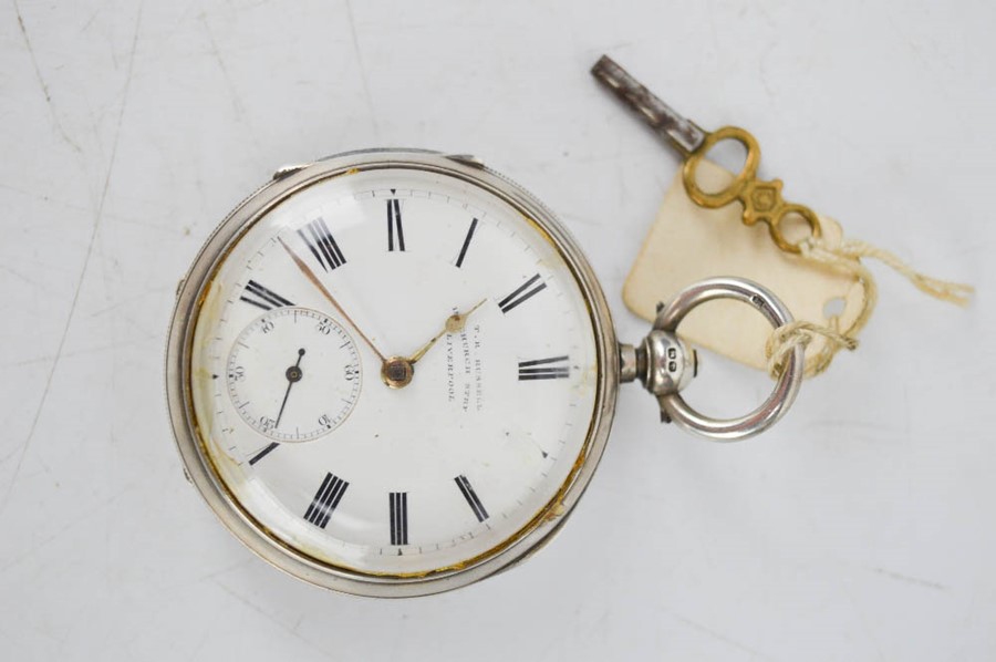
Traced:
POLYGON ((454 589, 527 558, 578 503, 621 382, 719 439, 791 403, 802 350, 755 412, 715 421, 678 393, 675 334, 718 297, 791 316, 732 278, 616 341, 591 266, 530 194, 461 155, 364 151, 280 168, 180 282, 167 400, 188 479, 253 552, 365 596, 454 589))

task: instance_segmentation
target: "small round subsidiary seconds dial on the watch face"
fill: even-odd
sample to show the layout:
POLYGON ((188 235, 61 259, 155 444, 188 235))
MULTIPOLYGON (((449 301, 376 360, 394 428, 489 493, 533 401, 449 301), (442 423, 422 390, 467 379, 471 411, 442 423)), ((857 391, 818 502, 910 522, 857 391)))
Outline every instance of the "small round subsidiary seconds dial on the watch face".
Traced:
POLYGON ((232 405, 250 427, 276 442, 308 442, 353 411, 360 356, 350 334, 326 314, 277 308, 239 334, 226 379, 232 405))

